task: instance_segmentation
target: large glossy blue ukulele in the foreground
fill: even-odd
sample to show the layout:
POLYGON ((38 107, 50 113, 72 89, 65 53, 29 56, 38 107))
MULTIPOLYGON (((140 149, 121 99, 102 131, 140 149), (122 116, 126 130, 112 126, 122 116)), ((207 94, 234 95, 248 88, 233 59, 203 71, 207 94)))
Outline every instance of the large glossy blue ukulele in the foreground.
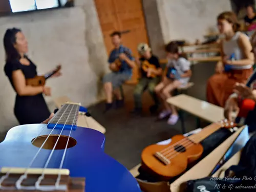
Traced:
POLYGON ((77 126, 78 103, 48 124, 13 127, 0 143, 0 191, 141 192, 123 165, 106 155, 102 133, 77 126))

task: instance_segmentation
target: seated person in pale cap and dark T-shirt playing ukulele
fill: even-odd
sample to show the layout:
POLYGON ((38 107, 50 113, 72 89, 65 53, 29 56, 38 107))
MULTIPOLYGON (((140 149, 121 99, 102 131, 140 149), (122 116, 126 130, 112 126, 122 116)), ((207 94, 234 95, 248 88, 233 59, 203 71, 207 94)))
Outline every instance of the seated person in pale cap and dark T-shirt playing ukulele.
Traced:
POLYGON ((162 74, 159 59, 151 53, 151 48, 148 47, 147 44, 139 44, 138 52, 141 57, 136 59, 136 63, 140 67, 141 78, 134 90, 135 108, 131 113, 135 115, 139 115, 142 112, 141 97, 146 88, 150 91, 150 94, 155 101, 155 105, 153 105, 150 110, 152 113, 157 110, 159 101, 154 90, 159 82, 159 76, 162 74))

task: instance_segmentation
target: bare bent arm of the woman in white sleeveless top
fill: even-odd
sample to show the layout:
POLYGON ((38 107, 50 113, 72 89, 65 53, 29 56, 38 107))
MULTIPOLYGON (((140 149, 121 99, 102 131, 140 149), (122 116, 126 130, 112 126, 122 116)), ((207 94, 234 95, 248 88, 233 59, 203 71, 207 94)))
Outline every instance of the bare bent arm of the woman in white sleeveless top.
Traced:
POLYGON ((241 34, 240 37, 238 38, 238 44, 245 58, 234 61, 228 60, 227 64, 234 66, 253 65, 254 54, 251 52, 252 46, 248 37, 244 34, 241 34))

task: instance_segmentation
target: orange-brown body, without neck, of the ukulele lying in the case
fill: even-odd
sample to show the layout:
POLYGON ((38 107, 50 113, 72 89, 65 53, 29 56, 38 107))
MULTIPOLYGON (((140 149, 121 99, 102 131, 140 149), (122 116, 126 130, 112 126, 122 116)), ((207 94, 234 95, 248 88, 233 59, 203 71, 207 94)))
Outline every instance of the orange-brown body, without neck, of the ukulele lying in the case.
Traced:
POLYGON ((172 138, 172 142, 167 145, 154 144, 147 146, 144 148, 141 158, 142 165, 145 165, 149 172, 156 175, 160 180, 168 181, 170 178, 184 172, 187 164, 199 159, 202 153, 203 146, 201 144, 193 143, 183 135, 176 135, 172 138), (181 140, 182 142, 180 142, 181 140), (182 147, 181 144, 183 143, 184 145, 182 147), (185 147, 186 145, 189 147, 185 147), (169 164, 165 164, 155 157, 157 152, 167 147, 169 147, 168 152, 170 157, 173 157, 169 164), (175 153, 175 148, 176 151, 179 151, 178 154, 175 153))

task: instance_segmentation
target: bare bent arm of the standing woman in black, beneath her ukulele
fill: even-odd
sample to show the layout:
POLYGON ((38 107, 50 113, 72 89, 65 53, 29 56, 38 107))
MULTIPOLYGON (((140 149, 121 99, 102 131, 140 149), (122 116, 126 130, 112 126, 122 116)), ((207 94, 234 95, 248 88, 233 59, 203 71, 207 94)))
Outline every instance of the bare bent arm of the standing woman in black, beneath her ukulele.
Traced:
POLYGON ((32 87, 26 85, 26 79, 22 70, 12 72, 14 88, 19 96, 33 96, 44 92, 44 87, 32 87))

